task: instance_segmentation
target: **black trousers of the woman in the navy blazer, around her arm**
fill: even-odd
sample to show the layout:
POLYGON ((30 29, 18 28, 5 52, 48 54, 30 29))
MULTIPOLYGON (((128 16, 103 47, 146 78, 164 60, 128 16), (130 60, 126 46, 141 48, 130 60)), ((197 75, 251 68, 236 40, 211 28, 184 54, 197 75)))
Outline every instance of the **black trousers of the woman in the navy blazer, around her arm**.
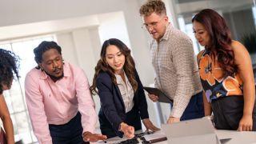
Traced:
MULTIPOLYGON (((106 117, 100 117, 99 122, 102 134, 106 135, 107 138, 113 138, 117 136, 106 117)), ((136 108, 133 108, 128 113, 126 113, 126 119, 124 120, 124 122, 126 122, 129 126, 134 126, 134 130, 142 130, 141 119, 138 114, 138 109, 136 108)))

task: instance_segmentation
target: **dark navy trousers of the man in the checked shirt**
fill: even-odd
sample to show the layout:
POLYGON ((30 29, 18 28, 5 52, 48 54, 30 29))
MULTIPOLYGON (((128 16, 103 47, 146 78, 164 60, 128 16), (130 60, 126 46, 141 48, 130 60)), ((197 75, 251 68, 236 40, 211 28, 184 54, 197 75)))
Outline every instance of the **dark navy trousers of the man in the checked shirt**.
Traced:
MULTIPOLYGON (((171 107, 173 104, 171 103, 171 107)), ((193 95, 190 98, 189 104, 186 106, 185 111, 182 114, 181 121, 194 119, 194 118, 202 118, 205 116, 203 101, 202 101, 202 92, 193 95)))

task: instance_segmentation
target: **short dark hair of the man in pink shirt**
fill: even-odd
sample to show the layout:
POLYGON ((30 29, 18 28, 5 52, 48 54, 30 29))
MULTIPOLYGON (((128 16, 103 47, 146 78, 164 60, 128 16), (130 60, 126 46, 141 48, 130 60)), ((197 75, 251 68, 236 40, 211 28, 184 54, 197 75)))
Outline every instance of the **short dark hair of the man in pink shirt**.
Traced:
MULTIPOLYGON (((42 62, 42 54, 44 52, 46 52, 47 50, 50 49, 55 49, 58 50, 59 54, 62 54, 62 48, 61 46, 58 46, 58 44, 54 41, 51 42, 47 42, 47 41, 43 41, 41 42, 38 47, 34 48, 34 60, 37 63, 41 63, 42 62)), ((39 68, 39 67, 37 67, 39 68)))

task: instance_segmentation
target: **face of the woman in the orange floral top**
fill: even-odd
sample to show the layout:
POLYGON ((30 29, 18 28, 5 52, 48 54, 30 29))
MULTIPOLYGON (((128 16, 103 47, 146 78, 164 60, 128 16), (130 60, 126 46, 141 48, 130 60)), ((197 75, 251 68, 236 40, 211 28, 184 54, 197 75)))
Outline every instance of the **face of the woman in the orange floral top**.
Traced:
POLYGON ((210 34, 202 23, 193 22, 194 37, 197 38, 201 46, 208 46, 210 44, 210 34))

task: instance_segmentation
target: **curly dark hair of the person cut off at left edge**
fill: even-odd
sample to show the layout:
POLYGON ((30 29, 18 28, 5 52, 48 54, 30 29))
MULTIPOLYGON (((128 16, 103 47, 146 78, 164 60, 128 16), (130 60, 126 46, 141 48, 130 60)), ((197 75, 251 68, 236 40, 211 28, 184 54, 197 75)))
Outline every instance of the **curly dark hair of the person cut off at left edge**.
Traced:
POLYGON ((2 85, 11 86, 14 74, 18 75, 19 58, 9 50, 0 49, 0 94, 2 94, 2 85))

